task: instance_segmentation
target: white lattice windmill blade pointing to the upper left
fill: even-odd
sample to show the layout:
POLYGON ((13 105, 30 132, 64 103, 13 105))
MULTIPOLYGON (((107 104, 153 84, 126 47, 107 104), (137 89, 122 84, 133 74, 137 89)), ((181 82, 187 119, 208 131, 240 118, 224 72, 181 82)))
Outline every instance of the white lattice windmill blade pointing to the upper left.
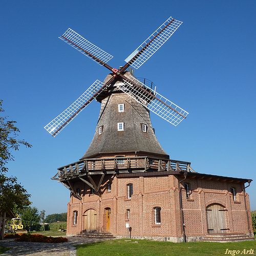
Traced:
POLYGON ((77 51, 92 58, 101 66, 113 58, 112 55, 95 46, 70 28, 59 38, 74 47, 77 51))

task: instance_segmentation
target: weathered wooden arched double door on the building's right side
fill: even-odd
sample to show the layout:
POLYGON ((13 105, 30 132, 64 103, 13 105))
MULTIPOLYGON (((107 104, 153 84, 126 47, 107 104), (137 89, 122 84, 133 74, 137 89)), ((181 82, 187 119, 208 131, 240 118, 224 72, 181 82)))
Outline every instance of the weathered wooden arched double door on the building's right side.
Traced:
POLYGON ((225 209, 220 204, 210 204, 207 208, 207 222, 209 233, 225 233, 225 209))

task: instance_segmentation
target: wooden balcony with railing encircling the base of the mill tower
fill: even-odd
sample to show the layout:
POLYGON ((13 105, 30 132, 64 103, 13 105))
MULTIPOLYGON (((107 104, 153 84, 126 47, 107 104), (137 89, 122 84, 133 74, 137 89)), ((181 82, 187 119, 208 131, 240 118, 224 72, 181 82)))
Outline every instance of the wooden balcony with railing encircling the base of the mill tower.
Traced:
POLYGON ((152 157, 115 157, 83 159, 58 168, 52 180, 60 182, 85 175, 122 174, 162 171, 195 172, 190 162, 152 157))

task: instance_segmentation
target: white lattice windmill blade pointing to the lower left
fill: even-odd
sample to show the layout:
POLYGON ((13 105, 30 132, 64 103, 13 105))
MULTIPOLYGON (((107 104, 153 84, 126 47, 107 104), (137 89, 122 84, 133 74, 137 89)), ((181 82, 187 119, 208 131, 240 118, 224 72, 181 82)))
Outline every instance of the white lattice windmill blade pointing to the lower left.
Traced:
POLYGON ((98 96, 105 87, 105 84, 99 80, 96 80, 74 103, 72 103, 65 111, 63 111, 45 126, 46 131, 55 137, 84 108, 86 108, 86 106, 96 96, 98 96))

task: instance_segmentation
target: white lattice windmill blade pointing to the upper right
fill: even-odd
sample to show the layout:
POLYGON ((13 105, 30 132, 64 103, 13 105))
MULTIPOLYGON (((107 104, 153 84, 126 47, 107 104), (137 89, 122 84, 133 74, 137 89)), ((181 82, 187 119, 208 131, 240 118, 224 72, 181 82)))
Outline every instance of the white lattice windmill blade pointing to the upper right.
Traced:
POLYGON ((125 61, 135 69, 138 69, 173 35, 181 24, 182 22, 179 20, 169 17, 125 61))

